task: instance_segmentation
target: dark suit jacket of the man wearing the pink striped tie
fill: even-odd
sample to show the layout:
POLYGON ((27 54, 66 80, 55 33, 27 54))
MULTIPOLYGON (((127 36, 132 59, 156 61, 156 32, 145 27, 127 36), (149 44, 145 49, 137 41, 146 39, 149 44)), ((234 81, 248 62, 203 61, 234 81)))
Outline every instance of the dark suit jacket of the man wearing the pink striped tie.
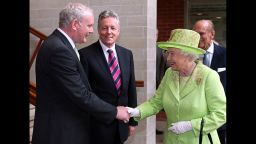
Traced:
MULTIPOLYGON (((93 92, 101 99, 114 106, 136 107, 137 95, 132 52, 118 45, 115 48, 121 70, 120 96, 117 95, 117 90, 99 41, 79 50, 81 63, 88 75, 93 92)), ((131 118, 129 125, 135 126, 137 122, 131 118)), ((128 124, 123 121, 116 120, 111 124, 105 124, 93 118, 91 126, 94 144, 113 144, 115 137, 118 138, 119 136, 121 142, 128 138, 128 124)))

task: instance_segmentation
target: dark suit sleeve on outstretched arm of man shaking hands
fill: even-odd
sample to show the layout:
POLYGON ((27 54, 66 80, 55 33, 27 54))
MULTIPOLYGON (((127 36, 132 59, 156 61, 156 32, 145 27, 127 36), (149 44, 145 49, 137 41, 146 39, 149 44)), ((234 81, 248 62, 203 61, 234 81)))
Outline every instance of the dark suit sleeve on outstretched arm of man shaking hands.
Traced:
POLYGON ((63 48, 56 49, 50 62, 52 79, 72 103, 103 122, 110 123, 115 119, 116 108, 98 98, 88 89, 85 84, 86 80, 81 77, 79 62, 73 58, 70 51, 63 48))

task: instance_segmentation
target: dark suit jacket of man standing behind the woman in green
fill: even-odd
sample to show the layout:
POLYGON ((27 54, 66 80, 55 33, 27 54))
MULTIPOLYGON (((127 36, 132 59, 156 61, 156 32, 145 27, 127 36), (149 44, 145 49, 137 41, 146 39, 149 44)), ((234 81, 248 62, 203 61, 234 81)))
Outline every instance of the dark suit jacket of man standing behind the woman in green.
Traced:
MULTIPOLYGON (((214 52, 212 62, 210 66, 213 70, 217 71, 220 76, 220 81, 226 92, 226 70, 219 71, 220 68, 226 68, 226 48, 214 44, 214 52), (219 70, 218 70, 219 69, 219 70)), ((218 130, 226 129, 226 124, 220 127, 218 130)))

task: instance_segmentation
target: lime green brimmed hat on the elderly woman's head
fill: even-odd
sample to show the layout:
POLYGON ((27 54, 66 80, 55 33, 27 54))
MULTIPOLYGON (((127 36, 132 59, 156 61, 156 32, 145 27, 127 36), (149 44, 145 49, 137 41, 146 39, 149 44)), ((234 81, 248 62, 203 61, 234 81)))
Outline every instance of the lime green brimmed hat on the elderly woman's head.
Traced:
POLYGON ((174 29, 166 42, 158 42, 159 48, 168 50, 169 48, 182 49, 185 52, 201 55, 205 50, 198 48, 200 40, 199 33, 188 29, 174 29))

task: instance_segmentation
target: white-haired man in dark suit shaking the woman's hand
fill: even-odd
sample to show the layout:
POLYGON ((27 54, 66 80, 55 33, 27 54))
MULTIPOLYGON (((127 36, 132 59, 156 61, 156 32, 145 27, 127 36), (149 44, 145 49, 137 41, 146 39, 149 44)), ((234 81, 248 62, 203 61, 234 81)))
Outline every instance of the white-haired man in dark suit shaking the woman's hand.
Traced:
POLYGON ((86 42, 93 32, 92 10, 69 3, 59 16, 59 28, 44 41, 36 60, 32 143, 90 144, 90 115, 106 124, 116 118, 128 121, 130 117, 125 107, 116 108, 91 92, 79 61, 75 43, 86 42))

